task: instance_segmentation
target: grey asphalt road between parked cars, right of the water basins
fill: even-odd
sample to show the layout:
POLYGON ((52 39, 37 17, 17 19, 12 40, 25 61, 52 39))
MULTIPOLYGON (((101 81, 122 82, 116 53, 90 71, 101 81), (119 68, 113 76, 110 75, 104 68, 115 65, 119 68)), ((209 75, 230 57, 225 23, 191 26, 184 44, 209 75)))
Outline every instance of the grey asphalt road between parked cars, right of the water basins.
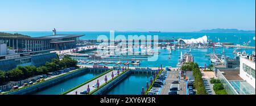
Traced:
POLYGON ((179 71, 170 71, 169 72, 169 74, 167 75, 167 78, 166 78, 166 82, 165 82, 166 84, 163 85, 160 95, 168 95, 168 93, 170 91, 171 83, 174 82, 175 80, 179 80, 179 79, 177 79, 178 76, 179 76, 179 71))

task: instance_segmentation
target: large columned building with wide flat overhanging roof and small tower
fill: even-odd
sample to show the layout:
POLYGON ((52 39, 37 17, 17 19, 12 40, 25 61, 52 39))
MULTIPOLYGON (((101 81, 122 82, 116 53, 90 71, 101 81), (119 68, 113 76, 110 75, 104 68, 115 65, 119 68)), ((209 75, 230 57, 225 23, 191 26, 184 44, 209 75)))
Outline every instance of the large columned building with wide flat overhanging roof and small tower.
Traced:
POLYGON ((61 35, 56 34, 42 37, 28 36, 0 36, 0 43, 15 49, 16 53, 35 52, 40 50, 65 50, 73 49, 79 44, 79 37, 84 35, 61 35))

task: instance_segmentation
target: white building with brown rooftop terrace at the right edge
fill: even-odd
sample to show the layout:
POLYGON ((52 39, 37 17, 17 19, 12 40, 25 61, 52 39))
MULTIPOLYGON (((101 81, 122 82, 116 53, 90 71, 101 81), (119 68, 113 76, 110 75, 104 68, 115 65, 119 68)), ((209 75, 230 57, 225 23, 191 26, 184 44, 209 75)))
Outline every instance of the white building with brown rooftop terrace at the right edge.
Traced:
POLYGON ((240 69, 217 69, 217 77, 229 95, 255 94, 255 54, 240 56, 240 69))

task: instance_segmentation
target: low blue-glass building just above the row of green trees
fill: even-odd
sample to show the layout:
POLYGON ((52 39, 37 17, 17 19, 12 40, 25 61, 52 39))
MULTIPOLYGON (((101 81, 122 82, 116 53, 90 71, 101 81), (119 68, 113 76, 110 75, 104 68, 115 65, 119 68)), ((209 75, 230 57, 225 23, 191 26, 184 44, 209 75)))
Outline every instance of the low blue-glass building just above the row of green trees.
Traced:
POLYGON ((54 49, 1 55, 0 70, 9 71, 17 66, 42 66, 46 62, 51 61, 53 58, 57 58, 56 53, 51 53, 52 50, 54 49))

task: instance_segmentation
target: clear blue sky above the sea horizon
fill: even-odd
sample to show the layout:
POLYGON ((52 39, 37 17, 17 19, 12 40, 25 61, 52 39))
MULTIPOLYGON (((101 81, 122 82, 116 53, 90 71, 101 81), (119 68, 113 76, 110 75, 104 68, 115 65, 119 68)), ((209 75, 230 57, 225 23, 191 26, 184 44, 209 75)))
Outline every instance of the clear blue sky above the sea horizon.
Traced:
POLYGON ((255 0, 1 0, 0 31, 255 30, 255 0))

